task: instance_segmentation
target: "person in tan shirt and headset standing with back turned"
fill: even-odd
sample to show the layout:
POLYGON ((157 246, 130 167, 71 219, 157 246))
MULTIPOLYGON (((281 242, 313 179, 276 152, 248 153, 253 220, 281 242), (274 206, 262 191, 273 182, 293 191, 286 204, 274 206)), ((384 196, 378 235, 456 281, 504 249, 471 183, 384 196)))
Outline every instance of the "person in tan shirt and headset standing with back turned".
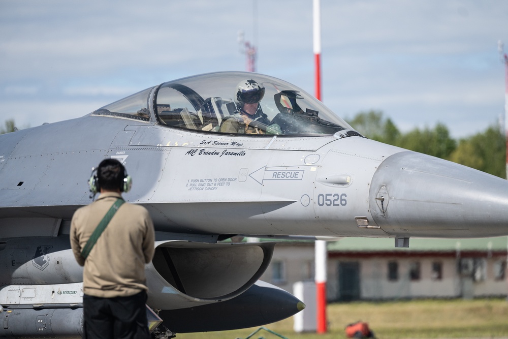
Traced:
POLYGON ((71 247, 78 264, 84 266, 84 333, 88 339, 150 337, 145 264, 153 258, 154 229, 144 207, 123 203, 121 192, 128 192, 131 182, 119 161, 103 160, 89 181, 90 190, 100 192, 99 198, 76 210, 72 218, 71 247), (97 238, 93 232, 105 219, 107 222, 104 217, 115 210, 113 205, 116 212, 97 238), (88 240, 94 237, 90 248, 93 241, 88 240))

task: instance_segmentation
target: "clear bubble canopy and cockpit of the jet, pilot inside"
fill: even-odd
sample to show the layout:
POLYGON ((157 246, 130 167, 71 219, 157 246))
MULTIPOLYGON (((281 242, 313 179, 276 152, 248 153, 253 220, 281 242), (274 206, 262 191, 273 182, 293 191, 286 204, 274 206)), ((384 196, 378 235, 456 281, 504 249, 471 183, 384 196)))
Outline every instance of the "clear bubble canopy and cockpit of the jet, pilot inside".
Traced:
POLYGON ((302 89, 270 76, 220 72, 140 91, 92 115, 117 116, 201 133, 322 136, 352 130, 302 89))

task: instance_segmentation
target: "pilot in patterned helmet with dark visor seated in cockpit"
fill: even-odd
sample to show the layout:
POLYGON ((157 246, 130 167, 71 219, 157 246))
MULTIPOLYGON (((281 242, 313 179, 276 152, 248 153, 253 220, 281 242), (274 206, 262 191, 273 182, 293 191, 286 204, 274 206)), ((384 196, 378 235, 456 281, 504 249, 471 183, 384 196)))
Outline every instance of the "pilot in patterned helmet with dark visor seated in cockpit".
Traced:
POLYGON ((220 132, 241 134, 278 134, 276 129, 267 128, 270 120, 259 104, 265 95, 265 87, 256 80, 242 80, 235 95, 236 114, 226 117, 220 132), (267 132, 268 130, 268 132, 267 132))

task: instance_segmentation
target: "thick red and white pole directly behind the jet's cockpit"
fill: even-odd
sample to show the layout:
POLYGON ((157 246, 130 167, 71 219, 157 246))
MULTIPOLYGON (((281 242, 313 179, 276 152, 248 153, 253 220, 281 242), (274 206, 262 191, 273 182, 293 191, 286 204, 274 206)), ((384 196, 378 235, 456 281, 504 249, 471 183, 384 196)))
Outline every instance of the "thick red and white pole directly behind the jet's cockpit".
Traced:
MULTIPOLYGON (((320 0, 313 0, 313 51, 315 65, 315 97, 321 100, 321 9, 320 0)), ((315 284, 316 284, 316 331, 326 333, 326 241, 316 240, 314 248, 315 284)))

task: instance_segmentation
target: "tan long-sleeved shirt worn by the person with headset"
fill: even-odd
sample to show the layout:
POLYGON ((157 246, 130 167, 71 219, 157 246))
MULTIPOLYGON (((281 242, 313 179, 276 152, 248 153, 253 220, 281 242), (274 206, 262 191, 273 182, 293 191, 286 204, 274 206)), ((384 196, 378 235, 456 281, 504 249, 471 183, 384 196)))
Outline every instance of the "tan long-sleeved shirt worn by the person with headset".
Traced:
POLYGON ((153 222, 143 206, 121 205, 86 261, 81 257, 88 238, 120 197, 119 193, 102 193, 72 217, 71 247, 78 264, 84 265, 83 292, 87 295, 113 298, 147 290, 145 263, 153 258, 155 235, 153 222))

